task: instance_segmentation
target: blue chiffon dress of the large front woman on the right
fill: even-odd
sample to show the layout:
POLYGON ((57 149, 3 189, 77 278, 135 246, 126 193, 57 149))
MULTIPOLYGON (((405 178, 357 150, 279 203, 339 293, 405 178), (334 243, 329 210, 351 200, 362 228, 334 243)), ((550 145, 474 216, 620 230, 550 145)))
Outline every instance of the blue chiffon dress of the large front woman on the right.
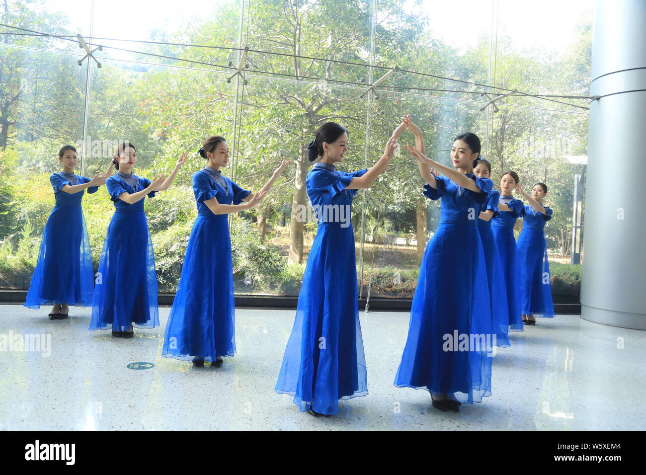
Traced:
POLYGON ((491 395, 492 313, 477 228, 493 182, 468 174, 480 192, 436 177, 440 223, 426 246, 410 311, 408 339, 394 385, 424 389, 463 404, 491 395), (466 340, 466 344, 464 343, 466 340), (478 344, 479 342, 479 344, 478 344))

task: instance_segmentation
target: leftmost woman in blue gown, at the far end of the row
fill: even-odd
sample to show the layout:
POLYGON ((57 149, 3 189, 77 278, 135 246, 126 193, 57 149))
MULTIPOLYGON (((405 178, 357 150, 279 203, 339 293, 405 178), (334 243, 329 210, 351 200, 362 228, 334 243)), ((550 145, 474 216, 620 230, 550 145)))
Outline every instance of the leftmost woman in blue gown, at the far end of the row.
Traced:
POLYGON ((53 304, 50 320, 67 318, 69 305, 92 304, 94 268, 81 200, 86 189, 88 193, 95 193, 112 173, 110 165, 105 174, 96 174, 91 179, 74 174, 78 156, 72 145, 60 149, 58 160, 63 171, 49 177, 56 204, 43 230, 43 242, 25 301, 28 308, 53 304))

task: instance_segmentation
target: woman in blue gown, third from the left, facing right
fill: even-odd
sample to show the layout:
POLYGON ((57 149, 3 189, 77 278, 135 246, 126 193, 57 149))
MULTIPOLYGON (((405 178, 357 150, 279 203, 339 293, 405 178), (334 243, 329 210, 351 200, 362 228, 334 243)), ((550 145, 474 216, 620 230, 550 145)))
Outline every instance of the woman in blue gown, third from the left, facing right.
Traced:
POLYGON ((235 315, 229 213, 260 203, 289 164, 283 160, 258 193, 250 193, 222 176, 229 146, 222 136, 207 138, 199 151, 207 165, 193 174, 198 216, 191 229, 182 275, 166 325, 161 355, 193 361, 194 366, 222 366, 233 356, 235 315), (233 204, 232 204, 233 203, 233 204))

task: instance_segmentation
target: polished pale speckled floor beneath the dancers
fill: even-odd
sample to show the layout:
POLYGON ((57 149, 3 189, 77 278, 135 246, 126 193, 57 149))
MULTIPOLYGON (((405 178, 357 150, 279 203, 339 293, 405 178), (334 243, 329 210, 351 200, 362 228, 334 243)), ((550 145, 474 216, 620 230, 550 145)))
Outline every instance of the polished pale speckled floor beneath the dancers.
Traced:
POLYGON ((88 308, 63 321, 49 321, 49 310, 0 306, 1 430, 646 428, 646 332, 576 315, 512 333, 494 357, 492 396, 455 413, 434 409, 424 390, 392 385, 408 313, 362 312, 370 394, 317 418, 273 390, 294 311, 237 310, 236 356, 193 368, 160 356, 169 308, 160 308, 161 328, 135 329, 132 339, 87 330, 88 308), (36 342, 30 351, 19 345, 25 336, 36 342))

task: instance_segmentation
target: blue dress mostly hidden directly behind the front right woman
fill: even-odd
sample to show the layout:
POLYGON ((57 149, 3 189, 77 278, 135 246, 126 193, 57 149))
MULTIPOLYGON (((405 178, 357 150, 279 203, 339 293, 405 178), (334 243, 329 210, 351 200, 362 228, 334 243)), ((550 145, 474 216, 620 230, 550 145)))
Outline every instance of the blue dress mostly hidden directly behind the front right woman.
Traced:
MULTIPOLYGON (((486 201, 483 203, 480 211, 493 211, 497 216, 498 202, 500 193, 495 190, 489 192, 486 201)), ((491 230, 491 220, 478 220, 478 231, 483 243, 485 252, 486 275, 492 313, 492 331, 495 333, 496 346, 511 346, 507 332, 509 331, 509 310, 507 306, 507 290, 503 278, 503 264, 498 253, 498 246, 495 244, 494 232, 491 230)), ((483 291, 485 286, 481 286, 479 291, 483 291)))

